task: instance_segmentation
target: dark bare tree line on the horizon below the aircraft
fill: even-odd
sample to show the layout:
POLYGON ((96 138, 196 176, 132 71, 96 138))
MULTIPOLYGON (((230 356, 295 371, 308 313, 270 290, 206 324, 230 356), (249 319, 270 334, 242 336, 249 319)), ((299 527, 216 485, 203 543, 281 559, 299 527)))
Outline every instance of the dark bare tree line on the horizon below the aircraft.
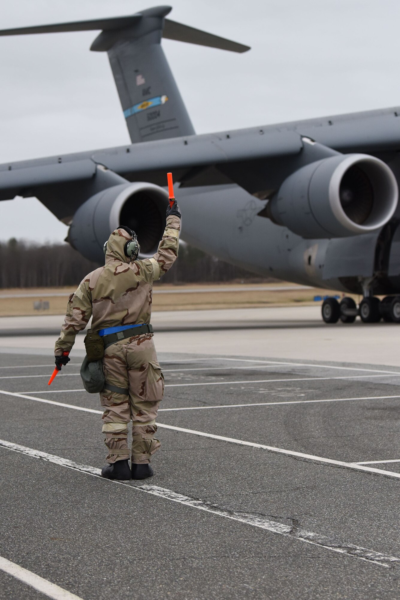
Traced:
MULTIPOLYGON (((0 242, 0 287, 77 286, 98 263, 85 259, 69 244, 32 244, 15 238, 0 242)), ((174 267, 162 283, 218 283, 257 280, 244 269, 189 245, 180 247, 174 267)))

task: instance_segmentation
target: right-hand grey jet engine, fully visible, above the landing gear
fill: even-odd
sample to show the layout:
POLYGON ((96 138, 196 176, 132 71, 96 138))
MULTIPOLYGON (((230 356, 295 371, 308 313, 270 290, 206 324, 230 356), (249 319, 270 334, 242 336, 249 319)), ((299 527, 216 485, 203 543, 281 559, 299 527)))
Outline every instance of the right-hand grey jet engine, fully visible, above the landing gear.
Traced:
POLYGON ((267 207, 272 221, 302 238, 341 238, 383 226, 398 185, 389 167, 366 154, 323 158, 292 173, 267 207))

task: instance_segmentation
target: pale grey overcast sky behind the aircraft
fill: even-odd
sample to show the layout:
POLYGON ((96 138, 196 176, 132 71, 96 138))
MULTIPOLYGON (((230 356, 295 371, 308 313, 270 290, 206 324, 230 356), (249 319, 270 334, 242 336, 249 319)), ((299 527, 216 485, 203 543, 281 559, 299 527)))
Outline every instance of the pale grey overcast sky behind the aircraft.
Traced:
MULTIPOLYGON (((133 14, 156 0, 1 0, 1 27, 133 14)), ((197 133, 400 104, 398 0, 175 0, 171 19, 251 46, 163 40, 197 133)), ((0 38, 0 163, 129 143, 96 32, 0 38)), ((35 199, 0 203, 0 239, 65 238, 35 199)))

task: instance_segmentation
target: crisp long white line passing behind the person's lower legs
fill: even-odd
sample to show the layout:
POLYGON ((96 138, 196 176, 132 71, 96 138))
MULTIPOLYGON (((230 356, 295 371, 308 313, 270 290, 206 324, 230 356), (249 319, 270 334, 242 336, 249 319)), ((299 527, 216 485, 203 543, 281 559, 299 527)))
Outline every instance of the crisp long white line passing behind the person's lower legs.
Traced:
MULTIPOLYGON (((34 396, 28 396, 26 394, 18 394, 17 392, 7 392, 5 390, 0 390, 0 394, 5 394, 8 396, 14 396, 16 398, 24 398, 25 400, 34 400, 35 402, 43 402, 45 404, 53 404, 54 406, 61 406, 63 408, 80 410, 82 412, 90 412, 95 413, 96 415, 102 415, 102 410, 88 409, 83 406, 75 406, 75 404, 65 404, 63 402, 56 402, 55 400, 45 400, 44 398, 35 398, 34 396)), ((400 396, 396 396, 396 398, 400 398, 400 396)), ((284 404, 279 403, 279 404, 284 404)), ((240 446, 251 446, 252 448, 260 448, 262 450, 268 450, 270 452, 277 452, 278 454, 285 454, 287 456, 294 456, 297 458, 304 458, 305 460, 315 461, 317 463, 326 463, 326 464, 334 464, 336 466, 344 467, 346 469, 354 469, 359 471, 368 471, 371 473, 377 473, 379 475, 385 475, 387 477, 394 477, 396 479, 400 479, 400 473, 395 473, 393 471, 385 471, 383 469, 375 469, 375 467, 366 467, 364 465, 359 465, 355 463, 344 463, 340 460, 333 460, 332 458, 324 458, 320 456, 315 456, 313 454, 305 454, 304 452, 296 452, 294 450, 286 450, 283 448, 275 448, 275 446, 266 446, 265 444, 259 444, 256 442, 246 442, 244 440, 238 440, 234 437, 225 437, 225 436, 217 436, 213 433, 205 433, 205 431, 197 431, 193 429, 186 429, 184 427, 176 427, 175 425, 165 425, 164 423, 157 422, 157 426, 163 429, 171 429, 174 431, 181 431, 182 433, 190 433, 195 436, 201 437, 210 437, 211 439, 220 440, 222 442, 229 442, 238 444, 240 446)))

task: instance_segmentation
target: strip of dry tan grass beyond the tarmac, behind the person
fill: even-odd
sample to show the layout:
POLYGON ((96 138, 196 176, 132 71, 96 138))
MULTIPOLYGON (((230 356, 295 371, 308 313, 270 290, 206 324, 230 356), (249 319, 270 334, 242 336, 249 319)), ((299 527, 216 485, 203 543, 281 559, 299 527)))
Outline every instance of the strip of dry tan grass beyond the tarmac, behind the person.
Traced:
MULTIPOLYGON (((72 287, 3 289, 0 316, 63 314, 72 287), (47 304, 48 303, 48 304, 47 304)), ((202 310, 316 304, 314 296, 341 295, 335 290, 307 288, 291 283, 202 284, 154 286, 153 310, 202 310), (291 287, 292 289, 287 289, 291 287), (256 289, 254 289, 256 288, 256 289), (194 290, 190 292, 189 290, 194 290), (185 293, 187 292, 187 293, 185 293)), ((357 300, 356 296, 354 299, 357 300)), ((320 304, 320 302, 318 302, 320 304)))

